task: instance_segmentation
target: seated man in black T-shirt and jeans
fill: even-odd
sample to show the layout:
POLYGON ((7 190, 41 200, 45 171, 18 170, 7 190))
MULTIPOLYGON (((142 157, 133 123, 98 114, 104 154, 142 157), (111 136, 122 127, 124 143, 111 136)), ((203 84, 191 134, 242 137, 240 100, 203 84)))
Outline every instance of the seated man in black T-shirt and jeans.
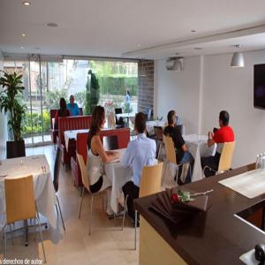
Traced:
MULTIPOLYGON (((194 159, 193 155, 188 151, 186 147, 185 140, 183 140, 181 136, 181 132, 176 127, 177 123, 177 115, 175 110, 170 110, 168 113, 168 124, 164 130, 163 134, 166 136, 170 136, 174 142, 175 150, 176 150, 176 158, 177 163, 190 163, 191 170, 188 170, 186 175, 186 183, 192 181, 193 174, 193 164, 194 159)), ((180 168, 181 169, 181 168, 180 168)), ((181 170, 179 170, 179 174, 181 174, 181 170)))

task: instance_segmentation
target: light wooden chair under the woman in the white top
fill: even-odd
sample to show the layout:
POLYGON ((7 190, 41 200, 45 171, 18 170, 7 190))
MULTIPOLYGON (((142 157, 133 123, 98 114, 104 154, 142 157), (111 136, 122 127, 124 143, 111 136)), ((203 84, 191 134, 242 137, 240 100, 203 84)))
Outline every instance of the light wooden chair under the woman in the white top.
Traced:
MULTIPOLYGON (((93 209, 94 197, 96 195, 100 194, 100 193, 106 192, 109 188, 101 190, 98 193, 91 193, 90 192, 88 173, 87 173, 87 169, 86 169, 86 165, 85 165, 83 156, 79 155, 78 153, 76 155, 77 155, 77 158, 78 158, 78 161, 79 161, 79 167, 80 167, 80 171, 81 171, 82 182, 83 182, 83 185, 84 185, 83 189, 82 189, 82 197, 81 197, 81 203, 80 203, 80 207, 79 207, 79 219, 81 217, 81 209, 82 209, 82 204, 83 204, 83 199, 84 199, 85 188, 87 189, 87 192, 90 193, 90 195, 91 195, 90 215, 89 215, 89 230, 88 230, 88 234, 90 236, 91 235, 92 209, 93 209)), ((103 197, 102 197, 102 200, 103 200, 103 197)))

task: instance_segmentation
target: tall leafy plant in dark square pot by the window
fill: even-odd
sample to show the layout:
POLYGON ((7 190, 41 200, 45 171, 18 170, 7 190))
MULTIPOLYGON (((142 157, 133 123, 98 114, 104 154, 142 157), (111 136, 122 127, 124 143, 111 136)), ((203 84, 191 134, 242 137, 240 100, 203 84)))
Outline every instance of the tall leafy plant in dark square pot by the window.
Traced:
MULTIPOLYGON (((4 72, 4 71, 1 71, 4 72)), ((27 106, 21 103, 19 95, 22 95, 25 87, 22 85, 23 75, 17 72, 4 72, 0 78, 0 110, 8 114, 8 125, 11 130, 11 140, 6 142, 6 157, 25 156, 25 142, 21 133, 22 121, 26 115, 27 106)))

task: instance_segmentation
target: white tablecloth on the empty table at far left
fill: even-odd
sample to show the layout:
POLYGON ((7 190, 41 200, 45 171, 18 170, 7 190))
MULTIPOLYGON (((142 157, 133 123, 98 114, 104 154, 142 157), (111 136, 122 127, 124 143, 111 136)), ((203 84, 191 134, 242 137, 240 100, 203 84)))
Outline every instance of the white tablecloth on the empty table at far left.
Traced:
POLYGON ((0 175, 5 174, 7 174, 6 177, 0 177, 0 231, 6 223, 4 178, 19 178, 29 175, 33 175, 34 178, 34 196, 38 211, 47 217, 52 227, 56 228, 55 204, 57 199, 45 155, 6 159, 0 165, 0 175), (46 171, 42 169, 44 166, 46 171))

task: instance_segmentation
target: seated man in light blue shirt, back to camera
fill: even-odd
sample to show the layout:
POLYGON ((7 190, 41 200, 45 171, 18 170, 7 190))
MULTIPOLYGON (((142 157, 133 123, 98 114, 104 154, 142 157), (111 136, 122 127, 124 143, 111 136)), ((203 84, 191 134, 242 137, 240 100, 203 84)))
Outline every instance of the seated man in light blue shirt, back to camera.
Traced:
POLYGON ((127 208, 128 214, 133 218, 133 200, 139 197, 141 170, 144 166, 154 165, 156 144, 155 140, 149 139, 146 135, 146 117, 142 112, 135 116, 134 130, 138 134, 137 139, 129 142, 122 158, 122 165, 133 168, 133 180, 128 181, 123 186, 123 192, 128 195, 127 208))

